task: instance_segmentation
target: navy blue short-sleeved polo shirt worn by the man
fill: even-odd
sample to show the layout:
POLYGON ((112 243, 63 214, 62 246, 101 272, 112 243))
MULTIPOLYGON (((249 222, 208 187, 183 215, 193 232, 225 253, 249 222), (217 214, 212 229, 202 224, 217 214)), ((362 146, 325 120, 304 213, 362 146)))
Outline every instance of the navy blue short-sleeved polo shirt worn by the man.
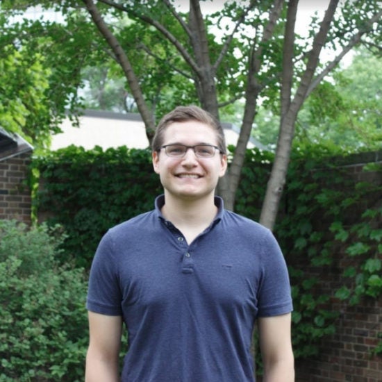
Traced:
POLYGON ((123 382, 254 381, 257 317, 290 313, 285 260, 272 233, 219 208, 191 244, 156 208, 103 236, 87 308, 121 315, 123 382))

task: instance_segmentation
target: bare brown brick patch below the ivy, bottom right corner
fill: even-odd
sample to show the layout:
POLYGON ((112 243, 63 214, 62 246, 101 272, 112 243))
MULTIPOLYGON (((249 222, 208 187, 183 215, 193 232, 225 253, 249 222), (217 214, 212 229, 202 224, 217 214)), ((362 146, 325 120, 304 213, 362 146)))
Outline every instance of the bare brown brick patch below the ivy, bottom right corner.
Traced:
MULTIPOLYGON (((342 285, 337 269, 325 274, 322 284, 332 292, 342 285)), ((346 306, 333 297, 331 308, 340 312, 335 334, 321 340, 316 358, 296 361, 296 382, 381 382, 382 357, 372 354, 382 333, 381 299, 346 306)))

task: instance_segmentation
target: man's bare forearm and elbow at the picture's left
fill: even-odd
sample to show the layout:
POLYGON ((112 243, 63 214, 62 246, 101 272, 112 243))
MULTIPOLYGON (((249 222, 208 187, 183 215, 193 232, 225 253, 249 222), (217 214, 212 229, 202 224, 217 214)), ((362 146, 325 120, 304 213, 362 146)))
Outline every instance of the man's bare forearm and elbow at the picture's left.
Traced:
POLYGON ((119 381, 122 317, 89 312, 85 382, 119 381))

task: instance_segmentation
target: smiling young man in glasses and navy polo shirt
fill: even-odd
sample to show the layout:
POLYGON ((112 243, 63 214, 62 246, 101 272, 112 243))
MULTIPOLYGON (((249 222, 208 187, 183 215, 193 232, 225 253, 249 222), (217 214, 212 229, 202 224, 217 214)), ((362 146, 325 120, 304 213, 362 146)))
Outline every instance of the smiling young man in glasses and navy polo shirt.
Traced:
POLYGON ((222 127, 178 107, 153 138, 164 195, 102 238, 90 273, 87 382, 254 381, 258 322, 266 382, 294 381, 288 272, 272 233, 215 197, 222 127))

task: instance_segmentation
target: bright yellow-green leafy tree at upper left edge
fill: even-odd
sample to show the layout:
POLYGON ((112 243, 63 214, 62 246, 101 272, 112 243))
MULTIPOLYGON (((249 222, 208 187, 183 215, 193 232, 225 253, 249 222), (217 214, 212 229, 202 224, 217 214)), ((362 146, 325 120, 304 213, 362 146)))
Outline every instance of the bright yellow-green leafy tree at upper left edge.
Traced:
POLYGON ((29 1, 0 3, 0 126, 42 149, 49 145, 51 134, 60 131, 67 111, 72 116, 81 108, 80 69, 94 63, 93 36, 88 33, 91 26, 81 23, 80 17, 68 19, 67 24, 21 19, 30 5, 29 1))

